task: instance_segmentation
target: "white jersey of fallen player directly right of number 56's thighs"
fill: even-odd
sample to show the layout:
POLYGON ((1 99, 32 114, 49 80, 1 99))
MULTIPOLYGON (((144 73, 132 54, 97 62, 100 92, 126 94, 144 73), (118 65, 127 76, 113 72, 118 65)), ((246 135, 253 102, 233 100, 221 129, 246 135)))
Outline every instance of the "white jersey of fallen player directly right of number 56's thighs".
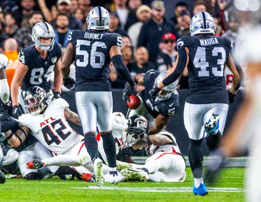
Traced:
POLYGON ((126 142, 127 132, 125 131, 128 129, 128 124, 123 113, 112 113, 111 129, 112 135, 115 139, 116 154, 125 147, 131 146, 126 142))

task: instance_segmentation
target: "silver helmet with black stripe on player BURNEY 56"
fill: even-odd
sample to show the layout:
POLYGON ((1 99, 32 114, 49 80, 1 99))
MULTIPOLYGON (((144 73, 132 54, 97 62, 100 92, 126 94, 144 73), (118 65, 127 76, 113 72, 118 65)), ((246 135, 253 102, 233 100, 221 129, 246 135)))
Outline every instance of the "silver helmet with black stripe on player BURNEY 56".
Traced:
POLYGON ((109 12, 103 7, 94 7, 90 10, 87 18, 88 30, 109 30, 111 18, 109 12))

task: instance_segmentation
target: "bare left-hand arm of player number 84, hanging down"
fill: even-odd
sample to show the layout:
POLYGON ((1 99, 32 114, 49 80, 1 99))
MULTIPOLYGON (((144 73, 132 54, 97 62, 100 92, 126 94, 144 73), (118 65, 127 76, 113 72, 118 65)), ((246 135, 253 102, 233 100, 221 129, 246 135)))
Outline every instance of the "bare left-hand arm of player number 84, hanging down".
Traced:
POLYGON ((15 74, 11 82, 12 106, 19 105, 18 103, 19 84, 24 78, 26 72, 28 72, 28 66, 18 61, 17 67, 15 69, 15 74))

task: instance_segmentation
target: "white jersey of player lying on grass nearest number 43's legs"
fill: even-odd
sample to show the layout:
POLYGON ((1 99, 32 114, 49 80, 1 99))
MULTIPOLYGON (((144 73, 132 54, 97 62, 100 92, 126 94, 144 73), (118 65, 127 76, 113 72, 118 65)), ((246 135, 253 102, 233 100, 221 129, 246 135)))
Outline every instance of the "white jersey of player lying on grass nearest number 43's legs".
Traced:
POLYGON ((152 156, 153 154, 157 153, 157 152, 170 152, 170 153, 174 153, 174 152, 180 152, 180 149, 178 147, 178 144, 176 143, 176 138, 171 134, 171 133, 166 133, 166 132, 161 132, 155 135, 166 135, 167 137, 172 139, 172 143, 169 144, 165 144, 162 146, 155 146, 155 145, 151 145, 150 146, 150 155, 152 156))

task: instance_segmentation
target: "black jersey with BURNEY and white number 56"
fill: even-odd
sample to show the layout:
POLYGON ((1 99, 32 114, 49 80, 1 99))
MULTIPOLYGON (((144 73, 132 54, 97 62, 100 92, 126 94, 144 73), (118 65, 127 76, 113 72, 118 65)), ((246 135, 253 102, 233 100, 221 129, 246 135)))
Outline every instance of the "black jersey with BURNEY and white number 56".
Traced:
POLYGON ((68 41, 75 53, 76 92, 111 91, 110 49, 122 45, 120 34, 73 30, 68 41))

